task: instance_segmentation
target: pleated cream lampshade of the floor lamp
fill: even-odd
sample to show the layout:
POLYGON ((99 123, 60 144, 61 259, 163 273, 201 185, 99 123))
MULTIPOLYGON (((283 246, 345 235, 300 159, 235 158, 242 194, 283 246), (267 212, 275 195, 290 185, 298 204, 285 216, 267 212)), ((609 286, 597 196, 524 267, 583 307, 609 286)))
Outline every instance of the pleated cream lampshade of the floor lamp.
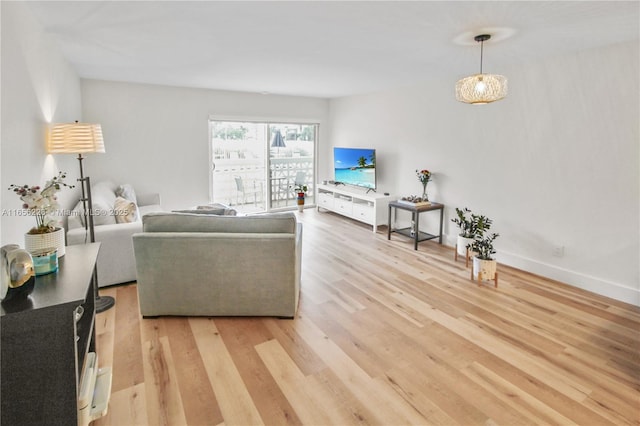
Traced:
POLYGON ((62 123, 49 129, 47 152, 50 154, 84 154, 104 152, 99 124, 62 123))

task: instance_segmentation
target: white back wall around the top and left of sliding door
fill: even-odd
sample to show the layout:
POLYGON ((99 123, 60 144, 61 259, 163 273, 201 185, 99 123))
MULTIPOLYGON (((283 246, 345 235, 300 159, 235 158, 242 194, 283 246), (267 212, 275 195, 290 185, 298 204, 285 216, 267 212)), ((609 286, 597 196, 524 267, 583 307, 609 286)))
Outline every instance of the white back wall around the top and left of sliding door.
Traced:
POLYGON ((105 154, 87 158, 92 182, 159 192, 166 209, 209 201, 210 116, 309 119, 327 129, 328 101, 166 86, 82 81, 83 116, 99 122, 105 154))

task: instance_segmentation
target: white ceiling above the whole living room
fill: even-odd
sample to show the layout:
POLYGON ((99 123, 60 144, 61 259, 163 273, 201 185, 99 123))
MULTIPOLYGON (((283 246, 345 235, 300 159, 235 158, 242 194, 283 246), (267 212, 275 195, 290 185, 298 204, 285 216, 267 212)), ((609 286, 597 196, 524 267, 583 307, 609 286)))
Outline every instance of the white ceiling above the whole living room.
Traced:
POLYGON ((83 78, 340 97, 629 40, 638 1, 28 2, 83 78), (502 40, 501 40, 502 39, 502 40))

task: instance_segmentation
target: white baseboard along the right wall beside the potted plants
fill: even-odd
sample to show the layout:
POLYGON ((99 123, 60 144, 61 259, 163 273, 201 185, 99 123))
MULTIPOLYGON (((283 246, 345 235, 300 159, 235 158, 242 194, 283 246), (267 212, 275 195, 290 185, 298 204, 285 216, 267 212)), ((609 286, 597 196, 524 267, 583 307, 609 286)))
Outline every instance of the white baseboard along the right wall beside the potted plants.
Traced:
POLYGON ((513 253, 500 251, 496 258, 498 263, 522 269, 543 277, 551 278, 592 293, 610 297, 631 305, 640 306, 640 289, 592 277, 576 271, 549 265, 534 259, 525 258, 513 253))

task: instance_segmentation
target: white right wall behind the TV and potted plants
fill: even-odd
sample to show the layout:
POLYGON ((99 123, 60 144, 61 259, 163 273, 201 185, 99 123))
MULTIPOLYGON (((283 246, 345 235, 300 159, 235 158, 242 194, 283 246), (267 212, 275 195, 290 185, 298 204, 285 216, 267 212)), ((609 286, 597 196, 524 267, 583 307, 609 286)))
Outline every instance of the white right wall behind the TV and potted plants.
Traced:
MULTIPOLYGON (((484 106, 457 102, 461 76, 442 75, 335 99, 331 145, 376 148, 380 191, 395 195, 421 192, 416 169, 434 172, 447 244, 454 207, 466 206, 494 219, 500 262, 640 305, 639 51, 500 70, 510 94, 484 106)), ((325 145, 320 179, 332 178, 331 157, 325 145)))

